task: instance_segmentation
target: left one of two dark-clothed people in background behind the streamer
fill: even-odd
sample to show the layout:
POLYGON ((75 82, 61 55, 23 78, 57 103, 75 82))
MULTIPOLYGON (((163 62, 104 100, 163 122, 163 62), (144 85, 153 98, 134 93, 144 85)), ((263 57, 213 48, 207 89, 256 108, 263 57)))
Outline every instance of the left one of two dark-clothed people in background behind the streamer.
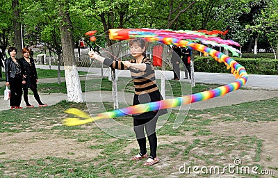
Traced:
POLYGON ((179 80, 180 78, 180 70, 179 70, 179 63, 181 63, 181 48, 174 45, 172 47, 172 64, 173 64, 173 72, 174 72, 174 78, 172 80, 179 80))

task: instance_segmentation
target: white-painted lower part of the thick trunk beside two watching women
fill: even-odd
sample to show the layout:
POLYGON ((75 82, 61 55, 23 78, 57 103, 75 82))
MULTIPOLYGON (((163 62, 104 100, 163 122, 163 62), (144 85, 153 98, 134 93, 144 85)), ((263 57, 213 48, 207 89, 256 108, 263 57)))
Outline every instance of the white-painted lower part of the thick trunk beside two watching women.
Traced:
POLYGON ((83 102, 81 84, 76 65, 65 65, 65 81, 67 85, 67 101, 68 102, 83 102))

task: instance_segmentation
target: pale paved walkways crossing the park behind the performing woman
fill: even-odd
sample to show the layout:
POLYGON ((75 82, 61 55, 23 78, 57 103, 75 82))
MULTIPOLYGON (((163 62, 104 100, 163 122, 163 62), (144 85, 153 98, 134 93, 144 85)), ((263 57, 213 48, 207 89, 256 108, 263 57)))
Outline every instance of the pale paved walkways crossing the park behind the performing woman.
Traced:
MULTIPOLYGON (((37 68, 49 69, 49 65, 36 65, 37 68)), ((56 66, 51 66, 51 69, 57 70, 56 66)), ((63 70, 63 67, 61 67, 63 70)), ((87 76, 81 76, 81 80, 85 80, 87 77, 101 76, 100 68, 88 68, 78 67, 79 71, 90 72, 87 76)), ((104 68, 104 76, 108 76, 109 70, 104 68)), ((117 71, 118 77, 131 77, 129 71, 117 71)), ((170 80, 173 76, 172 71, 166 71, 165 77, 170 80)), ((184 72, 181 72, 181 79, 183 80, 184 72)), ((156 71, 156 78, 161 78, 161 71, 156 71)), ((65 81, 62 78, 61 81, 65 81)), ((183 80, 188 81, 188 79, 183 80)), ((205 73, 195 72, 195 82, 197 83, 219 83, 227 84, 235 81, 235 77, 232 74, 218 74, 218 73, 205 73)), ((39 79, 39 83, 55 83, 57 79, 39 79)), ((0 86, 4 86, 5 82, 0 82, 0 86)), ((216 97, 208 99, 204 102, 197 102, 187 106, 183 106, 183 109, 204 109, 214 108, 218 106, 231 106, 232 104, 240 104, 243 102, 252 102, 255 100, 269 99, 278 97, 278 76, 268 75, 249 75, 249 79, 245 84, 245 87, 250 90, 236 90, 230 92, 224 97, 216 97)), ((37 102, 33 98, 33 95, 29 95, 29 100, 34 106, 38 106, 37 102)), ((42 102, 54 105, 57 102, 67 99, 66 94, 62 93, 51 93, 51 94, 40 94, 42 102)), ((133 93, 119 92, 118 99, 120 103, 132 104, 133 93)), ((109 91, 96 91, 96 92, 85 92, 83 93, 83 100, 85 102, 111 102, 111 92, 109 91)), ((24 100, 22 99, 22 106, 25 106, 24 100)), ((0 97, 0 111, 9 109, 9 102, 3 100, 3 95, 0 97)))

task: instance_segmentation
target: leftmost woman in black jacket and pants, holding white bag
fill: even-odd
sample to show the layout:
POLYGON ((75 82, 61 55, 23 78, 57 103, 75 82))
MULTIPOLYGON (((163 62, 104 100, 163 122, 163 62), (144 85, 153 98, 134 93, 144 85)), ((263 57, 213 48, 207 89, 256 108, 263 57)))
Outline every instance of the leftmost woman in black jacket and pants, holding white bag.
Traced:
POLYGON ((15 47, 8 48, 8 54, 10 58, 6 59, 6 86, 10 86, 10 108, 22 108, 20 104, 22 102, 22 67, 20 66, 18 59, 15 58, 17 49, 15 47))

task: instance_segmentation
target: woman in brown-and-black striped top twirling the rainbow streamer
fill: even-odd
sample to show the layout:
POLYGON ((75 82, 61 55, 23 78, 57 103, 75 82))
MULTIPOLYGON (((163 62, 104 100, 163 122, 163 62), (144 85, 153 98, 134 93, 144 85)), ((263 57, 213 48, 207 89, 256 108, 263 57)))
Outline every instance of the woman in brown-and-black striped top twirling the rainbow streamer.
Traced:
MULTIPOLYGON (((163 97, 156 86, 156 77, 152 60, 145 56, 146 41, 140 38, 130 40, 129 47, 131 49, 131 55, 133 56, 133 59, 129 61, 114 61, 109 58, 101 57, 93 51, 89 52, 89 56, 114 69, 130 70, 135 87, 133 105, 162 100, 163 97)), ((136 133, 140 153, 131 160, 137 161, 148 157, 144 133, 144 129, 146 129, 150 146, 150 155, 144 165, 153 165, 159 161, 156 156, 156 122, 158 117, 165 113, 167 113, 167 110, 162 109, 133 115, 133 130, 136 133)))

